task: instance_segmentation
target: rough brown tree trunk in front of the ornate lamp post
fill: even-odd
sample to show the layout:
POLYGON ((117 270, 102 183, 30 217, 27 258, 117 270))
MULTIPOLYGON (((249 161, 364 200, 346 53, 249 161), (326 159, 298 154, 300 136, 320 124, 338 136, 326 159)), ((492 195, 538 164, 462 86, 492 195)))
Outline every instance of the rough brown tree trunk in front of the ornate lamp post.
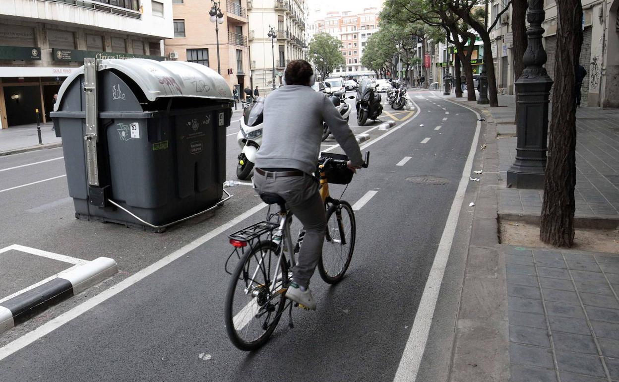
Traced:
POLYGON ((576 186, 575 69, 582 46, 582 6, 579 0, 556 0, 557 31, 552 120, 544 176, 540 240, 553 246, 574 243, 576 186))

